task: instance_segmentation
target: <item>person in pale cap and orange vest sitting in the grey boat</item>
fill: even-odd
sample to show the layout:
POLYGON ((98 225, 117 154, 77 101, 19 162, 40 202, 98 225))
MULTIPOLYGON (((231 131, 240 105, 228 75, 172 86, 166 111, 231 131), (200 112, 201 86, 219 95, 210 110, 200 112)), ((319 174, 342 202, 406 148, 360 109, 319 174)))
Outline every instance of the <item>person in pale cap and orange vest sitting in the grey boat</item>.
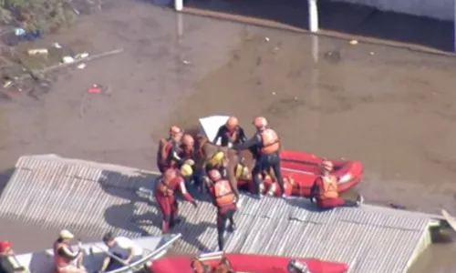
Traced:
POLYGON ((54 262, 58 273, 86 273, 82 266, 84 255, 82 245, 79 242, 78 251, 71 250, 69 243, 75 238, 67 229, 60 231, 57 240, 54 242, 54 262))

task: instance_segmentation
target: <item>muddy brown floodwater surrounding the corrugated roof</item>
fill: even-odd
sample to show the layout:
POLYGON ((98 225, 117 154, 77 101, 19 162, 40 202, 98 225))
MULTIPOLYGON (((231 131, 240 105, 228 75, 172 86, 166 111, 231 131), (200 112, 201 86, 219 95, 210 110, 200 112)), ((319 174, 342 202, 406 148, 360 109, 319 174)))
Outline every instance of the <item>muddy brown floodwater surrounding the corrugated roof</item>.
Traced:
MULTIPOLYGON (((124 56, 61 78, 37 101, 2 102, 2 167, 53 152, 153 168, 168 126, 226 114, 252 134, 261 115, 286 149, 360 160, 367 202, 456 215, 456 59, 191 15, 179 44, 174 14, 117 2, 78 31, 93 35, 98 25, 94 44, 124 46, 124 56), (81 117, 80 90, 100 81, 112 94, 91 97, 81 117)), ((0 224, 1 238, 20 250, 48 247, 57 232, 0 224)), ((413 272, 452 272, 455 255, 454 244, 433 246, 413 272)))

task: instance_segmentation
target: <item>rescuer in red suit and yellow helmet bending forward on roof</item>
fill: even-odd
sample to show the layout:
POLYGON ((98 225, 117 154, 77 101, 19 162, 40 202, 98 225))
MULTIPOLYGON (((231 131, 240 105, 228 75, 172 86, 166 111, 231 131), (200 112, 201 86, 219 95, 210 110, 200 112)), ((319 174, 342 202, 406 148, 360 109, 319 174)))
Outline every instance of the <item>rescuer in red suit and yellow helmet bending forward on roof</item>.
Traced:
POLYGON ((187 187, 185 187, 184 177, 190 177, 192 176, 192 173, 192 167, 187 164, 182 165, 180 170, 170 168, 165 171, 156 186, 155 199, 159 204, 163 216, 161 224, 163 233, 169 233, 171 227, 179 224, 179 219, 177 217, 178 203, 174 196, 176 190, 180 190, 182 197, 191 202, 193 207, 197 207, 196 201, 187 191, 187 187))

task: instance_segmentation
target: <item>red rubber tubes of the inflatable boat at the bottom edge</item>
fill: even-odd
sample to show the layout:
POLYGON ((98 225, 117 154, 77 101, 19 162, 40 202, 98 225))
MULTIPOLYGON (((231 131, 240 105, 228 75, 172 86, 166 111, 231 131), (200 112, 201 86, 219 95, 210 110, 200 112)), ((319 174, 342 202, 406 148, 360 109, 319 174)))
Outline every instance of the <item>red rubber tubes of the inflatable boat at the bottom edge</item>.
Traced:
MULTIPOLYGON (((234 271, 252 273, 288 273, 286 267, 292 259, 253 254, 225 254, 224 258, 229 260, 234 271)), ((201 258, 200 260, 213 270, 221 262, 222 256, 209 259, 201 258)), ((345 273, 348 269, 347 264, 328 262, 316 258, 296 258, 296 260, 306 263, 307 268, 312 273, 345 273)), ((192 257, 167 257, 154 260, 150 267, 150 272, 194 273, 192 257)))

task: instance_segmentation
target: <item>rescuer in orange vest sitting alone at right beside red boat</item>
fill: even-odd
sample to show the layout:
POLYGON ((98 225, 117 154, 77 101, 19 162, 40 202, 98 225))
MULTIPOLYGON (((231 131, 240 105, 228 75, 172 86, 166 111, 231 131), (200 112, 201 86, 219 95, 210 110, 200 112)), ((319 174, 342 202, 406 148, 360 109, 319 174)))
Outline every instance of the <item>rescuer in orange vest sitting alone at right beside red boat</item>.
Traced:
POLYGON ((321 176, 316 177, 316 181, 311 188, 311 202, 316 202, 316 206, 322 209, 333 207, 358 207, 363 203, 364 198, 360 195, 358 195, 356 202, 339 197, 337 191, 337 177, 331 175, 333 163, 324 160, 321 167, 321 176))

